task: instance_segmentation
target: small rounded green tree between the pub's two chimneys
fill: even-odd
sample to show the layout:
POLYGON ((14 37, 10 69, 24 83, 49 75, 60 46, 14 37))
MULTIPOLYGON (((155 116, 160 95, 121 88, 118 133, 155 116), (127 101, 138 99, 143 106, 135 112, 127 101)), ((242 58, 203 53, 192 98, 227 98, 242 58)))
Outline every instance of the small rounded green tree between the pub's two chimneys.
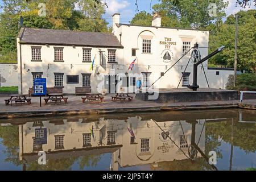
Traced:
POLYGON ((147 13, 146 11, 141 11, 134 15, 133 19, 131 19, 131 24, 140 25, 140 26, 151 26, 152 15, 147 13))

